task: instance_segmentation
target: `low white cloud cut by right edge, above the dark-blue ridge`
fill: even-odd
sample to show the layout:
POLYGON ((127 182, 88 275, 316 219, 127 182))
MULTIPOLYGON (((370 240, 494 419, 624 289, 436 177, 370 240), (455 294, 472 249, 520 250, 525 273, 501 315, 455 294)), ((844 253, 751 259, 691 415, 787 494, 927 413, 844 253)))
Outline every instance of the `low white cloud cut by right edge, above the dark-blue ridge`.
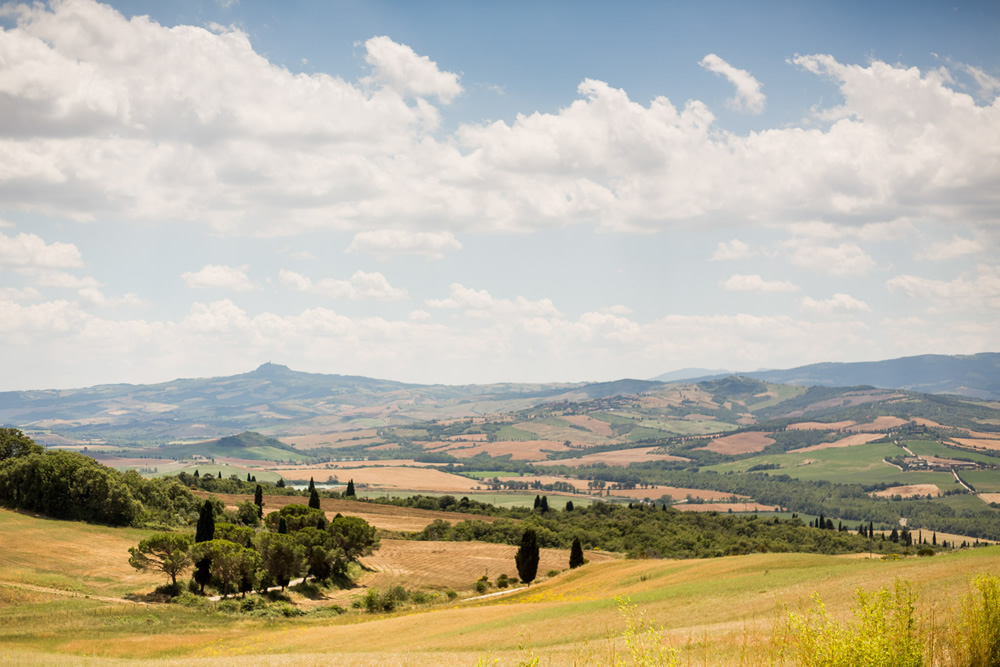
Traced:
POLYGON ((1000 264, 980 264, 974 273, 950 281, 899 275, 886 281, 886 287, 890 292, 930 302, 933 312, 1000 312, 1000 264))

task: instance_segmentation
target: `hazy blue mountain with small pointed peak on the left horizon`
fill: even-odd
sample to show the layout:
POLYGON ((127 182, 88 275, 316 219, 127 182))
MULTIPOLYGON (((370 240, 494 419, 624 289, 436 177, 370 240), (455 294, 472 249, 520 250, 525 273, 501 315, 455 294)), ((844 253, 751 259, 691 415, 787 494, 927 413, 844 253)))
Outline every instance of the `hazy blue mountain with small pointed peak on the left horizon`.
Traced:
POLYGON ((635 393, 658 383, 417 385, 352 375, 302 373, 266 363, 228 377, 152 385, 0 393, 0 425, 84 441, 209 440, 254 430, 282 435, 472 417, 560 400, 635 393))

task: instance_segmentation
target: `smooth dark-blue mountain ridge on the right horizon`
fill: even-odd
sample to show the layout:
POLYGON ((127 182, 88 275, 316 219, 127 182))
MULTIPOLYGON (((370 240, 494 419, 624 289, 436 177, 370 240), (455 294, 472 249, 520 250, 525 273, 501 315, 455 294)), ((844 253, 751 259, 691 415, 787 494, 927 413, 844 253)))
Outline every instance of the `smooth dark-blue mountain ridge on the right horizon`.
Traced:
MULTIPOLYGON (((886 361, 820 363, 788 370, 740 373, 776 384, 807 387, 870 385, 882 389, 909 389, 927 394, 958 394, 969 398, 1000 399, 1000 354, 947 356, 924 354, 886 361)), ((715 376, 696 378, 709 380, 715 376)))

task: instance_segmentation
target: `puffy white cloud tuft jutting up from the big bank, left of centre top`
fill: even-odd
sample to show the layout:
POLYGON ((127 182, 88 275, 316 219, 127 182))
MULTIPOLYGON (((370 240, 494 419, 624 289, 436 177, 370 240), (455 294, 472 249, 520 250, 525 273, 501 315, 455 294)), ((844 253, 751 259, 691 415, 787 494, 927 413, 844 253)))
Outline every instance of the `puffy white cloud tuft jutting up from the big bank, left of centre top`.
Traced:
POLYGON ((365 61, 374 70, 372 78, 406 95, 436 96, 448 104, 462 93, 458 75, 442 72, 427 56, 418 56, 405 44, 397 44, 386 36, 372 37, 365 42, 365 61))

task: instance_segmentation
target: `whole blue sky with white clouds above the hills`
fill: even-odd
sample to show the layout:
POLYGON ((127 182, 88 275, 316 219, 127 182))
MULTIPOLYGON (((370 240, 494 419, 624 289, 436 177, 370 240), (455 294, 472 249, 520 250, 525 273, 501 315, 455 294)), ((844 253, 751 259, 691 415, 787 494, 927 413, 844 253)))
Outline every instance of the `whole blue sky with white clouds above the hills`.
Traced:
POLYGON ((0 5, 0 391, 1000 351, 996 2, 0 5))

